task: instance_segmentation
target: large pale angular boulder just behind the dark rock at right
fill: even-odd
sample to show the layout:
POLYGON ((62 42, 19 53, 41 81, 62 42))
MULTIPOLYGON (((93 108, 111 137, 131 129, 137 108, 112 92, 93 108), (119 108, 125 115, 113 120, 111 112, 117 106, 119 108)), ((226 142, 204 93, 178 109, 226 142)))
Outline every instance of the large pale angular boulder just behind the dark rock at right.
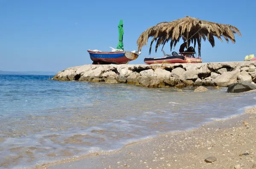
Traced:
POLYGON ((212 80, 212 83, 220 87, 228 87, 229 85, 237 82, 237 76, 240 69, 235 69, 230 72, 224 72, 221 76, 212 80))

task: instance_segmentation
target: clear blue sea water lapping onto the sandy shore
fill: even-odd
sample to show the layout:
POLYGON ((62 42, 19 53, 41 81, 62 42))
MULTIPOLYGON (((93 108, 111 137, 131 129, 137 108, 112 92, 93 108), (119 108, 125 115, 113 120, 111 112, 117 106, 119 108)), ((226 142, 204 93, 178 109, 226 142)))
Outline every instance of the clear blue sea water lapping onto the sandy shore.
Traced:
POLYGON ((197 93, 47 79, 0 75, 0 169, 115 151, 239 115, 256 103, 255 92, 227 88, 197 93))

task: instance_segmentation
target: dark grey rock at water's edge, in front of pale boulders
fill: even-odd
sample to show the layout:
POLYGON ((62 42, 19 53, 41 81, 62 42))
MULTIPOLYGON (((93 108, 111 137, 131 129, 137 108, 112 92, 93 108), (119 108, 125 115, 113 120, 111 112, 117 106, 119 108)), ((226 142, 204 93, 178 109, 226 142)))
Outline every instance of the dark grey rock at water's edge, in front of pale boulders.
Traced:
POLYGON ((227 88, 227 92, 228 93, 240 93, 240 92, 246 92, 249 90, 255 90, 256 89, 256 85, 253 85, 252 83, 248 82, 248 81, 243 81, 241 83, 234 83, 232 85, 230 85, 227 88))

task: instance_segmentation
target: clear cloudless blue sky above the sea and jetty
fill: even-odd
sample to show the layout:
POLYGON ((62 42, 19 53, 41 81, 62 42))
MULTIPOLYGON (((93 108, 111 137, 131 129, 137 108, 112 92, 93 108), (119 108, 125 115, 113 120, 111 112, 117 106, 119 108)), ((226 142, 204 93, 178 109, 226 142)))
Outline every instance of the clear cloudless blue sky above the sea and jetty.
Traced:
MULTIPOLYGON (((235 44, 215 38, 212 48, 208 41, 202 42, 203 62, 243 61, 244 56, 255 54, 255 5, 253 0, 0 0, 0 70, 60 71, 91 64, 87 49, 116 48, 120 19, 124 49, 133 51, 147 28, 186 15, 234 25, 241 31, 235 44)), ((161 48, 148 55, 149 44, 129 64, 163 56, 161 48)), ((172 51, 178 51, 180 44, 172 51)), ((171 53, 169 44, 164 51, 171 53)))

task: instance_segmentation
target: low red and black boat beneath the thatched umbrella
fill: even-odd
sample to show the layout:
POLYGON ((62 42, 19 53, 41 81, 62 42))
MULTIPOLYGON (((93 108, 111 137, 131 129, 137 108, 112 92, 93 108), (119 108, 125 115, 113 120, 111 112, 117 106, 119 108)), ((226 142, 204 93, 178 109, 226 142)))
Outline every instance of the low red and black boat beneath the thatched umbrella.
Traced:
POLYGON ((162 58, 144 58, 146 64, 161 63, 202 63, 201 58, 186 57, 182 55, 167 56, 162 58))

